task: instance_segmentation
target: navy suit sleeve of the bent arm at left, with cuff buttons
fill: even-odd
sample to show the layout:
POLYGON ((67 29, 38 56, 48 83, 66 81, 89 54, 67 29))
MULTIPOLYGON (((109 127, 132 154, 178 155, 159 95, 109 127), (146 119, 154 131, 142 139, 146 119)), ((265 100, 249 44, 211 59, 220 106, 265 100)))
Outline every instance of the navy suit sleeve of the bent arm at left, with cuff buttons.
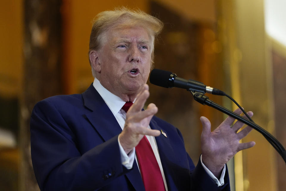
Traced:
POLYGON ((74 132, 48 100, 35 105, 30 132, 32 164, 42 191, 96 190, 128 172, 121 164, 118 136, 81 154, 74 132))

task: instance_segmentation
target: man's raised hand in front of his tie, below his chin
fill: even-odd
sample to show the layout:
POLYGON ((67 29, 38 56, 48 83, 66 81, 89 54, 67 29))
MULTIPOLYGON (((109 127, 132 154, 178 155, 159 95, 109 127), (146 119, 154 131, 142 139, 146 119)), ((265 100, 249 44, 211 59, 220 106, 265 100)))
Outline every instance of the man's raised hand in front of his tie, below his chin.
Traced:
POLYGON ((144 135, 159 136, 161 134, 159 130, 148 128, 151 118, 158 112, 156 105, 150 103, 147 109, 142 111, 149 95, 149 86, 145 84, 126 113, 126 121, 123 131, 119 134, 119 141, 127 154, 138 145, 144 135))

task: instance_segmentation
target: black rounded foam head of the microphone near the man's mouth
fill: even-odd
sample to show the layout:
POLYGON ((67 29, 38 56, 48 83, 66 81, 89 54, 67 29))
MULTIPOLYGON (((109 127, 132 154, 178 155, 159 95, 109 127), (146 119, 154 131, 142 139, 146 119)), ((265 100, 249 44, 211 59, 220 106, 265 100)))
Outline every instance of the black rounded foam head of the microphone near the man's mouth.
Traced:
POLYGON ((150 83, 156 86, 168 88, 168 80, 171 74, 172 72, 165 70, 153 69, 150 74, 150 83))

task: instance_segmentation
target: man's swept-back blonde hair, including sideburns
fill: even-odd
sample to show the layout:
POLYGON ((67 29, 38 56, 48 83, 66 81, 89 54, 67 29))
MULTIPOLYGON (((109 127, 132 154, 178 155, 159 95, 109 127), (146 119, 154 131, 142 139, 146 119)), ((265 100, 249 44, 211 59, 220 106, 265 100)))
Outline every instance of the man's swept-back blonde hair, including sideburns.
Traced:
MULTIPOLYGON (((99 50, 102 46, 102 41, 105 32, 113 27, 125 26, 140 26, 147 29, 149 38, 151 40, 151 68, 154 63, 154 41, 163 29, 163 22, 158 18, 153 17, 141 10, 131 10, 126 7, 116 8, 110 11, 103 11, 98 13, 93 20, 89 39, 89 51, 99 50)), ((90 60, 89 60, 90 61, 90 60)), ((94 76, 94 71, 92 74, 94 76)))

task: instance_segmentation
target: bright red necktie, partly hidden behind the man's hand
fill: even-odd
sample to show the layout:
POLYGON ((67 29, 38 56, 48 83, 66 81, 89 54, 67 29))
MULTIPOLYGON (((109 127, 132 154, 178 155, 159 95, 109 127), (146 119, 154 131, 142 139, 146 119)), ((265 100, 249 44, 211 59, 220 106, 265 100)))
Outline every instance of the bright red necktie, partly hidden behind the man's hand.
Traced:
MULTIPOLYGON (((132 102, 126 102, 122 109, 127 112, 132 104, 132 102)), ((166 191, 162 173, 146 136, 141 139, 135 150, 145 190, 166 191)))

